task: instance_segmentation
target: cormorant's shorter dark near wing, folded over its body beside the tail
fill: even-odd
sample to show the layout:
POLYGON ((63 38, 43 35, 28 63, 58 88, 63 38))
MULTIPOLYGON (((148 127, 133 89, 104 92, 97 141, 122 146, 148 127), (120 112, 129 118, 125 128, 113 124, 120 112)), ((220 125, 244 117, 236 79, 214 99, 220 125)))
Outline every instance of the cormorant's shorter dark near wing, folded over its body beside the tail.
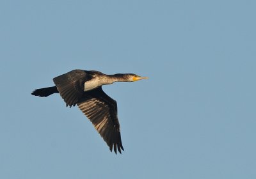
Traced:
POLYGON ((84 93, 84 82, 92 78, 84 70, 72 70, 67 74, 60 75, 53 79, 56 87, 68 106, 74 106, 84 93))

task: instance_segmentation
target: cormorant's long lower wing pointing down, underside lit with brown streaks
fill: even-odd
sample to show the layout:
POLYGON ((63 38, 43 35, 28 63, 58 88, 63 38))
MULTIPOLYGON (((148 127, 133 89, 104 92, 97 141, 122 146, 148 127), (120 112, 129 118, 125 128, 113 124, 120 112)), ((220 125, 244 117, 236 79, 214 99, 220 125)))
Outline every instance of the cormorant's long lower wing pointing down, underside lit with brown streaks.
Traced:
POLYGON ((112 152, 124 150, 121 141, 120 125, 117 118, 116 101, 102 90, 101 86, 92 91, 84 92, 78 107, 92 121, 100 136, 106 141, 112 152))

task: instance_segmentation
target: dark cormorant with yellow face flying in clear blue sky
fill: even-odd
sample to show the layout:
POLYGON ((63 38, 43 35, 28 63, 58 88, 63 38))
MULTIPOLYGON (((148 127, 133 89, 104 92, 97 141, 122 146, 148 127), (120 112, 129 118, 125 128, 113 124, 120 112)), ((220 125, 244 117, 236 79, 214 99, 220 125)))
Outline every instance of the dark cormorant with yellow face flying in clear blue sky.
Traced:
POLYGON ((106 141, 109 150, 113 147, 119 153, 124 150, 121 141, 120 125, 117 117, 117 104, 102 90, 102 85, 113 82, 133 82, 148 77, 135 74, 106 75, 98 71, 72 70, 67 74, 53 79, 56 86, 35 89, 31 94, 38 97, 48 97, 60 93, 66 105, 77 105, 92 121, 100 136, 106 141))

